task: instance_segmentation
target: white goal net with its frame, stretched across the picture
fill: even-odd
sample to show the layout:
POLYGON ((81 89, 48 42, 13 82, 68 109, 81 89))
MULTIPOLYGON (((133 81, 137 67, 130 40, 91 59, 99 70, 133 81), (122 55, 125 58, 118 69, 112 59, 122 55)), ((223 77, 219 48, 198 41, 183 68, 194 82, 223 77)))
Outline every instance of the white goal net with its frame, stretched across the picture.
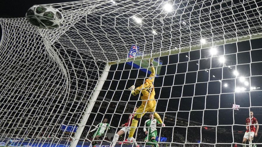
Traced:
MULTIPOLYGON (((0 18, 0 146, 110 146, 154 58, 160 146, 242 146, 262 113, 262 2, 87 0, 47 4, 64 22, 0 18)), ((146 113, 134 138, 144 146, 146 113)), ((128 135, 119 137, 118 143, 128 135)), ((249 142, 247 141, 248 145, 249 142)), ((252 141, 261 145, 260 131, 252 141)), ((121 145, 123 146, 123 145, 121 145)), ((129 145, 131 146, 131 145, 129 145)), ((134 146, 134 145, 132 145, 134 146)))

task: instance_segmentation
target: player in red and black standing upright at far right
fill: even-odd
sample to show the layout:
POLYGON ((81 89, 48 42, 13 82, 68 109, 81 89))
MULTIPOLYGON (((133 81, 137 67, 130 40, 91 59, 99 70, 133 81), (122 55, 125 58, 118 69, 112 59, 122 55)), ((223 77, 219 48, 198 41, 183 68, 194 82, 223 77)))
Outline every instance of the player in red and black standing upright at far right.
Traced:
POLYGON ((246 129, 247 131, 245 132, 245 135, 243 137, 243 147, 246 147, 246 142, 247 142, 247 139, 248 139, 248 142, 249 142, 249 146, 252 146, 252 140, 253 140, 253 137, 257 137, 257 132, 258 132, 258 129, 259 129, 259 125, 258 125, 258 121, 255 117, 253 117, 254 113, 253 111, 250 111, 250 117, 248 117, 246 119, 246 129), (256 124, 256 126, 254 125, 256 124))

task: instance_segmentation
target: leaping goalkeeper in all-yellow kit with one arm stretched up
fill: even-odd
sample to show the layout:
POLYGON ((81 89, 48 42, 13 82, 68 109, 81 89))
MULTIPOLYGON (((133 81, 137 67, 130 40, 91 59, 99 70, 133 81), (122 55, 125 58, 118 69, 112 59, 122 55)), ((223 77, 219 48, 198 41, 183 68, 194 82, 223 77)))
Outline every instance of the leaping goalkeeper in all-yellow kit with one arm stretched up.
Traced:
MULTIPOLYGON (((154 112, 156 107, 156 101, 155 101, 155 89, 154 89, 154 77, 155 77, 155 68, 153 66, 153 59, 150 60, 149 66, 151 67, 151 74, 148 79, 145 79, 144 76, 139 76, 138 79, 135 82, 136 86, 139 86, 135 88, 135 86, 131 86, 128 88, 129 90, 132 90, 132 95, 136 96, 140 94, 140 97, 142 99, 141 106, 137 109, 137 112, 134 115, 134 119, 132 120, 130 133, 128 136, 129 142, 135 142, 135 139, 133 137, 134 132, 137 128, 138 121, 141 119, 141 117, 144 116, 146 112, 154 112)), ((154 113, 155 119, 157 119, 162 126, 165 126, 160 118, 160 116, 155 112, 154 113)))

